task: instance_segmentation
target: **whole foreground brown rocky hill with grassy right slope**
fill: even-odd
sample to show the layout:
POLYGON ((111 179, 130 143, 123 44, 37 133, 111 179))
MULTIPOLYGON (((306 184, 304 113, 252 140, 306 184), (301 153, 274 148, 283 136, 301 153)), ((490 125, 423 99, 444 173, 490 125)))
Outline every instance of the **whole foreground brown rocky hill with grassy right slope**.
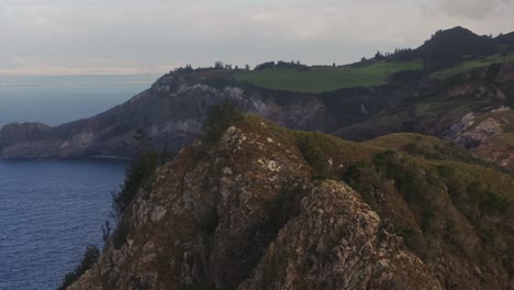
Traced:
MULTIPOLYGON (((217 144, 186 147, 159 168, 125 213, 122 243, 111 237, 99 263, 69 289, 513 287, 512 211, 468 220, 467 203, 459 210, 451 201, 462 193, 434 180, 423 193, 431 205, 400 193, 399 180, 378 183, 371 169, 358 183, 356 166, 382 160, 380 153, 246 118, 217 144), (482 239, 482 231, 494 236, 482 239)), ((413 166, 420 164, 427 167, 409 169, 416 172, 412 180, 432 180, 435 168, 452 166, 413 166)), ((514 186, 490 169, 471 171, 483 170, 498 177, 494 185, 514 186)), ((511 207, 512 192, 493 191, 507 194, 511 207)))

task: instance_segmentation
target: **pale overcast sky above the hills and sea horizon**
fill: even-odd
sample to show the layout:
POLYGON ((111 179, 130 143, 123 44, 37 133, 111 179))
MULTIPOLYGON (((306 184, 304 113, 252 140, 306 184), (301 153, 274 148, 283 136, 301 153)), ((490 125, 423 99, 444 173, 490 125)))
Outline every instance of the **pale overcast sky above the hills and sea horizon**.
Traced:
POLYGON ((0 75, 348 64, 439 29, 514 31, 514 0, 0 0, 0 75))

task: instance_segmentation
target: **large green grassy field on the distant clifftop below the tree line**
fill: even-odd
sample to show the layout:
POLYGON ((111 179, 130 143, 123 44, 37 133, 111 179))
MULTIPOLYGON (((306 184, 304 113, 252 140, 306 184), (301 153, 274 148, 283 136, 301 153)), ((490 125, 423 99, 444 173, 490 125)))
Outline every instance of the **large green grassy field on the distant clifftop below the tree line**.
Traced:
POLYGON ((324 92, 351 87, 383 85, 390 74, 423 68, 421 60, 398 63, 375 63, 361 68, 311 67, 310 70, 247 70, 237 71, 237 81, 256 86, 299 92, 324 92))

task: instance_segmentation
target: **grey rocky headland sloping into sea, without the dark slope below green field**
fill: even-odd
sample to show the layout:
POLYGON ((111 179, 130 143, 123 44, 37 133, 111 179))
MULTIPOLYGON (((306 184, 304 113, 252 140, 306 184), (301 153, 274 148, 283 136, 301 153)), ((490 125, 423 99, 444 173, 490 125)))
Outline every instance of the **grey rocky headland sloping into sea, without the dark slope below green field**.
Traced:
POLYGON ((223 100, 237 102, 252 112, 262 112, 265 107, 237 88, 215 89, 165 76, 150 89, 90 119, 45 126, 44 131, 34 124, 25 125, 21 132, 7 125, 0 131, 0 156, 131 156, 137 146, 132 138, 136 129, 150 135, 156 147, 167 144, 179 149, 195 138, 208 107, 223 100))

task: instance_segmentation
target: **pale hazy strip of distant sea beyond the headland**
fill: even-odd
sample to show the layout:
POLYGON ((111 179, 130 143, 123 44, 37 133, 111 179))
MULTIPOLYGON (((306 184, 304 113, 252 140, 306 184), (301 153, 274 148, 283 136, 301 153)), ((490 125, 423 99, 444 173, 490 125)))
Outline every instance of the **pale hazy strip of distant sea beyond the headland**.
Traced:
POLYGON ((154 75, 0 76, 0 126, 10 122, 57 125, 101 113, 149 88, 154 75))

